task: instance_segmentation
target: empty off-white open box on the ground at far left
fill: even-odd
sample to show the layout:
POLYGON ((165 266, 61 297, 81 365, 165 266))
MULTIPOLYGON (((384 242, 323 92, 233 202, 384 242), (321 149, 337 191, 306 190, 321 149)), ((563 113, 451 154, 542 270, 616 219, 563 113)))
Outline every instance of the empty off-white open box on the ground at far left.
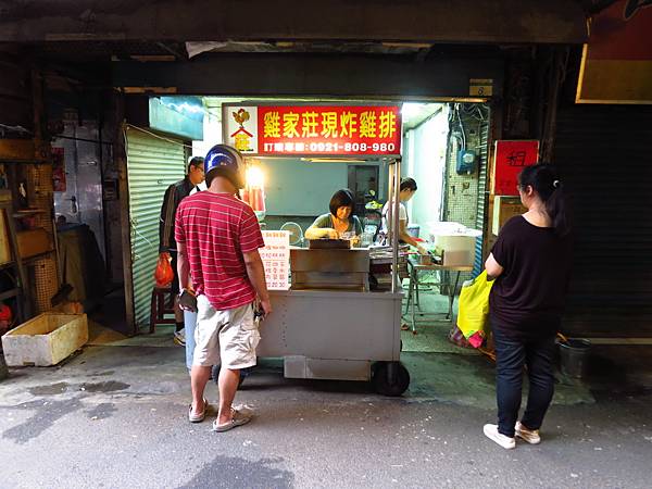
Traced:
POLYGON ((2 336, 9 366, 57 365, 88 341, 86 314, 43 313, 2 336))

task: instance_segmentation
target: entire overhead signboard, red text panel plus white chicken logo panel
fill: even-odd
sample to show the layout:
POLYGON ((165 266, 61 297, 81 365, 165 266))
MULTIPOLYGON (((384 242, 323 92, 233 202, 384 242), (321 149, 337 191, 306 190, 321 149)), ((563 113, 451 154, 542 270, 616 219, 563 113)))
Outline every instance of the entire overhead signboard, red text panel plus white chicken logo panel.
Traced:
POLYGON ((399 105, 228 105, 224 117, 225 140, 243 153, 401 153, 399 105))

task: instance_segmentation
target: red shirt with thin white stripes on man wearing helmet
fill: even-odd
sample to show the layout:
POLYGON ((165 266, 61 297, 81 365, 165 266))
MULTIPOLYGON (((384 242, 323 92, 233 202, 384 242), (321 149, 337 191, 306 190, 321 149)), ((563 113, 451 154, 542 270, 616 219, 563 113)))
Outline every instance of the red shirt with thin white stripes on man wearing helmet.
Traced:
POLYGON ((192 288, 217 311, 253 302, 242 253, 265 246, 253 210, 230 193, 197 192, 176 214, 175 240, 186 244, 192 288))

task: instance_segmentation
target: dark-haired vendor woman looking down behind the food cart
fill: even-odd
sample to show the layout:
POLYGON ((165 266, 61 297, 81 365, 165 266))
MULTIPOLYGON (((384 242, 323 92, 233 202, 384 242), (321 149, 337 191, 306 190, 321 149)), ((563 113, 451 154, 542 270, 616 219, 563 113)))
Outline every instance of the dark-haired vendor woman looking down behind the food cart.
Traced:
POLYGON ((351 239, 362 234, 362 224, 353 213, 353 193, 348 188, 338 190, 330 198, 330 212, 322 214, 305 231, 308 239, 351 239))

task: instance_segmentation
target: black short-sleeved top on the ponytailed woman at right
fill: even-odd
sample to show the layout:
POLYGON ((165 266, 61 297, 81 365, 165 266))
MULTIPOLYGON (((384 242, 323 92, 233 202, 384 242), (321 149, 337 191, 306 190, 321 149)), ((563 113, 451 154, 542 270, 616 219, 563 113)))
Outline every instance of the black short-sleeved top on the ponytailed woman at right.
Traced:
POLYGON ((538 338, 559 330, 572 260, 570 237, 512 217, 491 250, 504 269, 489 296, 494 328, 517 338, 538 338))

